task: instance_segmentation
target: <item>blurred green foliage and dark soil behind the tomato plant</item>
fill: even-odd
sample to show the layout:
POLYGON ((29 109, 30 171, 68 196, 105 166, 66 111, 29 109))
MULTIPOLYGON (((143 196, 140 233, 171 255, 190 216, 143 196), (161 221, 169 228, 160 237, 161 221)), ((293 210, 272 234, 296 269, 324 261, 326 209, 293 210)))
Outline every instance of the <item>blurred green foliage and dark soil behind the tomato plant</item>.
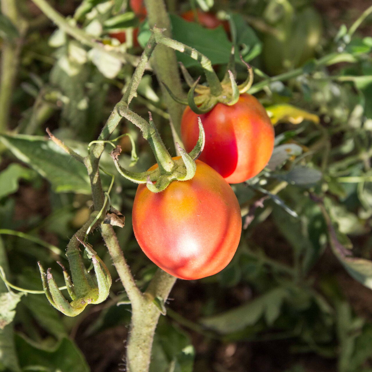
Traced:
MULTIPOLYGON (((49 3, 113 50, 139 55, 149 37, 145 15, 125 0, 49 3)), ((216 71, 224 73, 232 43, 253 65, 255 83, 262 82, 254 93, 276 125, 276 147, 259 176, 233 186, 244 230, 232 262, 209 278, 177 280, 156 331, 151 371, 371 372, 372 17, 351 27, 371 3, 167 3, 173 37, 206 54, 216 71), (192 6, 224 21, 214 29, 187 22, 180 15, 192 6)), ((56 29, 28 0, 19 2, 19 22, 0 15, 0 38, 3 46, 21 45, 9 120, 0 118, 0 265, 9 282, 40 290, 36 262, 52 267, 62 285, 55 261, 67 262, 64 247, 92 205, 83 165, 48 141, 45 128, 85 155, 134 67, 56 29)), ((178 58, 199 76, 196 61, 178 58)), ((243 80, 243 64, 237 72, 243 80)), ((143 116, 150 110, 173 148, 151 71, 132 108, 143 116)), ((147 169, 154 163, 148 145, 128 122, 114 137, 124 133, 137 145, 133 169, 147 169)), ((129 164, 128 137, 120 145, 129 164)), ((117 174, 109 147, 101 164, 117 174)), ((103 177, 107 189, 110 177, 103 177)), ((110 198, 125 215, 119 241, 145 288, 156 267, 132 234, 135 190, 117 176, 110 198)), ((22 295, 0 280, 0 371, 120 368, 130 305, 99 234, 90 243, 113 286, 106 302, 75 318, 62 316, 44 295, 22 295)))

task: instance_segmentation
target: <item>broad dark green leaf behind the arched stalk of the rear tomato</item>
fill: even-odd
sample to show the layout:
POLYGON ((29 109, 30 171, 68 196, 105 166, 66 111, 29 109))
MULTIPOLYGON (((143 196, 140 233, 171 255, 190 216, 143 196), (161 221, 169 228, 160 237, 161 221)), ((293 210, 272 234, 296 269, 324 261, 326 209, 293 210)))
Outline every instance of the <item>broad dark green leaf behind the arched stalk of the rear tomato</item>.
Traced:
MULTIPOLYGON (((176 15, 170 15, 173 39, 195 48, 208 57, 213 64, 225 64, 229 61, 231 42, 228 41, 226 32, 219 26, 207 29, 195 22, 187 22, 176 15)), ((188 55, 176 52, 177 59, 185 67, 200 67, 200 63, 188 55)))

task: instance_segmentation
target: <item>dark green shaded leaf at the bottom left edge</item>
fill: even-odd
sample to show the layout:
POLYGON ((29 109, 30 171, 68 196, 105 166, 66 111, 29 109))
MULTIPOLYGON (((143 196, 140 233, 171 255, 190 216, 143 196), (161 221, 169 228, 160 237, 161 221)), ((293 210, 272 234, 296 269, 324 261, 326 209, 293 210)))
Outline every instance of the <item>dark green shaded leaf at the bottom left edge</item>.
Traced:
POLYGON ((63 338, 51 349, 42 349, 20 335, 15 340, 23 371, 89 372, 84 356, 70 339, 63 338))

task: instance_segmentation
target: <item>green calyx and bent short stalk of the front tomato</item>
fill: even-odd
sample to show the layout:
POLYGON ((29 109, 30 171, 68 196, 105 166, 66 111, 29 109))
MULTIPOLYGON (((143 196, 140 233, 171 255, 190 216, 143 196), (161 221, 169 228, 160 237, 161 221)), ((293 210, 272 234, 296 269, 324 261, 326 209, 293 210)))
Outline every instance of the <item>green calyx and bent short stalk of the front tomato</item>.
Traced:
POLYGON ((150 112, 150 119, 148 122, 129 110, 125 105, 119 106, 118 113, 142 130, 142 134, 149 142, 158 163, 158 167, 154 170, 145 172, 129 171, 119 163, 118 155, 121 153, 121 147, 117 146, 110 155, 114 161, 116 169, 123 177, 135 183, 145 183, 147 188, 151 192, 155 193, 163 191, 173 181, 186 181, 192 179, 196 172, 195 160, 201 154, 205 144, 205 133, 200 118, 198 119, 199 138, 195 147, 190 151, 190 153, 187 153, 178 143, 176 143, 181 157, 179 159, 173 159, 160 138, 150 112))

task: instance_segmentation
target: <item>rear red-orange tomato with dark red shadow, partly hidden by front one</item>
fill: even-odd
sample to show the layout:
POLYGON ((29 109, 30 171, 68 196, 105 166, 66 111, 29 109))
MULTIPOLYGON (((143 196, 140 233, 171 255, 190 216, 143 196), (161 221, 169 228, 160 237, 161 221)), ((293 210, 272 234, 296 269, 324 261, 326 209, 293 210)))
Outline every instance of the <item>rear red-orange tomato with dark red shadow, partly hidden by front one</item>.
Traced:
POLYGON ((181 137, 187 151, 198 140, 198 116, 205 130, 205 147, 199 159, 210 165, 228 183, 240 183, 262 171, 274 147, 274 129, 261 103, 241 94, 235 105, 217 105, 197 115, 186 107, 181 137))

